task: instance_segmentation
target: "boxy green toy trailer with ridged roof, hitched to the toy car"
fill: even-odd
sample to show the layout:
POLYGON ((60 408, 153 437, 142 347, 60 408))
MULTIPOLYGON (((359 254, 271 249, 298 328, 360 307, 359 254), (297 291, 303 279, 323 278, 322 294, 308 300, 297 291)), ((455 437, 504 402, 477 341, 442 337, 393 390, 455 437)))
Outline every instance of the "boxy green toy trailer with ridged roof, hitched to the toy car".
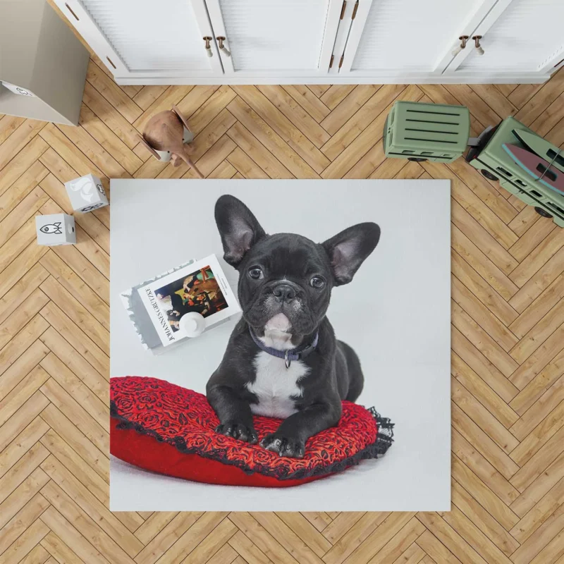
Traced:
POLYGON ((384 125, 386 157, 450 163, 465 152, 470 136, 466 106, 396 102, 384 125))

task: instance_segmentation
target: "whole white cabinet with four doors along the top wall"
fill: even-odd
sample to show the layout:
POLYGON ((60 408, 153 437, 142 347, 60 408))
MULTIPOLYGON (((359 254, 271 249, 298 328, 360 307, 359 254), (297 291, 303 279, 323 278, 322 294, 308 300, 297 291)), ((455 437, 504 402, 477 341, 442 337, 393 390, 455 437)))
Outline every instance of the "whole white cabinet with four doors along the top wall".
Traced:
POLYGON ((564 0, 54 1, 120 84, 544 82, 564 64, 564 0))

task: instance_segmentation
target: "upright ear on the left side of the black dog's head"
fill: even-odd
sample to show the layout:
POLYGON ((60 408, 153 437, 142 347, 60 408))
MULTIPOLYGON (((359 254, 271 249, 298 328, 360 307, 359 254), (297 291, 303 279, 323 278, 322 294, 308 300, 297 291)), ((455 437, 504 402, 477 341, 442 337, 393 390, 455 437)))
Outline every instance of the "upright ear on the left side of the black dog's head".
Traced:
POLYGON ((245 252, 266 233, 250 209, 234 196, 219 197, 215 216, 223 244, 223 259, 237 268, 245 252))

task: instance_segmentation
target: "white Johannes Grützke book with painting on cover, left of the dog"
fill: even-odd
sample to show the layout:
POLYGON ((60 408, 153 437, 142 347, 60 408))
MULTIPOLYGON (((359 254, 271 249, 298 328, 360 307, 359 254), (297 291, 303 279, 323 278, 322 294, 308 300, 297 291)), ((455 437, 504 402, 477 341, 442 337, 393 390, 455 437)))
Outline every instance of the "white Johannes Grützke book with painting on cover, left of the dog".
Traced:
POLYGON ((201 314, 206 329, 240 312, 215 255, 149 282, 137 293, 165 347, 186 337, 180 318, 188 312, 201 314))

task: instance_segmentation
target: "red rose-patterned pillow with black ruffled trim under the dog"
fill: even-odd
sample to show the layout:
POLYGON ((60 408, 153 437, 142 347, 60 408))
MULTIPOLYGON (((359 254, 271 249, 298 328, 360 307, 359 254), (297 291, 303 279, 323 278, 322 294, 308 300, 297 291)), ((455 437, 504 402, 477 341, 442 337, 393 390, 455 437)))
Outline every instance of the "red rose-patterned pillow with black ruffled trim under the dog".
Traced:
MULTIPOLYGON (((304 458, 281 457, 216 433, 206 396, 145 376, 110 381, 110 452, 159 474, 231 486, 296 486, 379 458, 392 443, 393 424, 374 408, 343 401, 336 427, 307 440, 304 458)), ((281 419, 255 416, 259 441, 281 419)))

